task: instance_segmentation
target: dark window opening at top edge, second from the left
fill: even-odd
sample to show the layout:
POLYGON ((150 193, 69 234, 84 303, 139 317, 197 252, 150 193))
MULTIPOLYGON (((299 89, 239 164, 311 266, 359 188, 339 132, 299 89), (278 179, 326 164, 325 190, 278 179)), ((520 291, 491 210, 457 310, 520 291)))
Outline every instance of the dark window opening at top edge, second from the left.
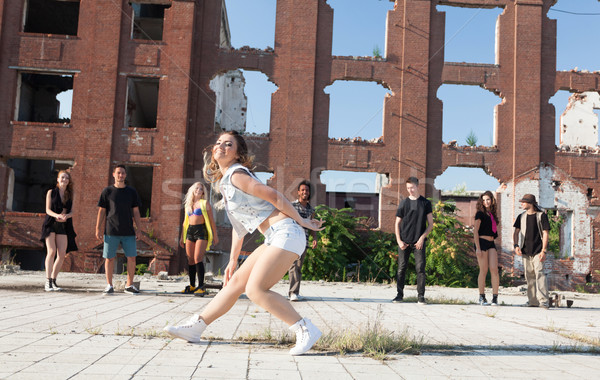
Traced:
POLYGON ((167 4, 150 4, 156 3, 156 1, 131 3, 131 8, 133 8, 132 39, 151 41, 163 39, 165 9, 170 7, 169 2, 165 2, 167 4))

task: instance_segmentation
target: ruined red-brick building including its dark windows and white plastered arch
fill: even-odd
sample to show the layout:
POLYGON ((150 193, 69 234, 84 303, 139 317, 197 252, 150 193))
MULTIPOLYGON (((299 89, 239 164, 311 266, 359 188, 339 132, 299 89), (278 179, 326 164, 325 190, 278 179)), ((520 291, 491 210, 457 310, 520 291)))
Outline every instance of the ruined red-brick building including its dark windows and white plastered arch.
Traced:
MULTIPOLYGON (((177 272, 180 198, 200 177, 202 150, 218 129, 216 105, 240 117, 245 111, 243 102, 217 99, 211 81, 244 69, 264 73, 277 86, 268 136, 248 142, 258 169, 274 174, 270 184, 278 190, 291 197, 303 178, 319 184, 323 170, 379 173, 387 177, 379 223, 391 230, 405 178, 427 179, 423 190, 433 195, 433 179, 449 166, 483 168, 502 183, 505 270, 522 271, 510 254, 511 222, 519 197, 533 193, 567 220, 561 244, 568 253, 550 255, 546 263, 552 285, 600 281, 599 156, 574 146, 580 145, 578 133, 570 127, 561 127, 563 144, 555 146, 548 102, 558 90, 597 93, 600 74, 556 71, 556 21, 548 17, 554 2, 397 0, 388 13, 382 57, 334 57, 333 10, 325 0, 278 0, 275 46, 267 50, 223 44, 221 0, 3 0, 0 245, 22 257, 41 249, 40 194, 53 171, 72 167, 80 251, 65 269, 101 270, 101 246, 93 236, 96 202, 111 183, 111 167, 124 162, 144 203, 148 234, 141 256, 155 270, 177 272), (445 61, 439 4, 502 9, 494 64, 445 61), (328 139, 329 96, 323 89, 338 80, 372 81, 391 91, 382 139, 328 139), (492 146, 442 143, 442 102, 436 97, 442 84, 481 86, 501 97, 492 146), (72 112, 61 117, 57 94, 66 89, 73 92, 72 112)), ((229 128, 231 120, 217 115, 219 128, 229 128)), ((317 190, 313 203, 322 203, 324 186, 317 190)), ((226 225, 221 228, 226 237, 226 225)), ((217 248, 228 244, 222 239, 217 248)))

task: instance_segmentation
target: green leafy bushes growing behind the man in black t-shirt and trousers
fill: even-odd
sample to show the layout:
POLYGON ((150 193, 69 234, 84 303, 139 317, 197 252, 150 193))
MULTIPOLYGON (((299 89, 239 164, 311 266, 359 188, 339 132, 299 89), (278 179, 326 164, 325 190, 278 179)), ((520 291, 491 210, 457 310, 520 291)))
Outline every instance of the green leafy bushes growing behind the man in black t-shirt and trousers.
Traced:
MULTIPOLYGON (((304 279, 391 282, 396 278, 398 245, 394 234, 370 229, 366 218, 352 213, 350 208, 316 208, 316 218, 325 221, 325 229, 318 233, 317 247, 307 249, 304 279)), ((458 220, 456 206, 438 201, 433 207, 433 221, 427 239, 427 284, 475 287, 479 270, 469 256, 473 238, 458 220)), ((413 255, 406 282, 417 282, 413 255)))

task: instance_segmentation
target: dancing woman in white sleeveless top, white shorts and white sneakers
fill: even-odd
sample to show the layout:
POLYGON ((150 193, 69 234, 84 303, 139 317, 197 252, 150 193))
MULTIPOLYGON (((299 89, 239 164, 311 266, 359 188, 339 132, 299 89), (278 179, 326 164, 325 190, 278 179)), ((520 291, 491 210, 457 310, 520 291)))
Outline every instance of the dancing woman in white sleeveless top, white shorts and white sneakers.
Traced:
POLYGON ((256 178, 250 171, 252 157, 246 142, 237 132, 222 133, 206 153, 204 177, 219 183, 233 226, 229 264, 223 289, 204 310, 182 325, 166 326, 165 331, 188 342, 199 342, 206 326, 229 311, 245 292, 255 304, 290 326, 296 333, 290 354, 302 355, 316 343, 321 331, 302 318, 284 296, 270 289, 304 252, 302 227, 321 230, 323 221, 300 217, 283 195, 256 178), (256 229, 265 236, 265 242, 237 269, 244 236, 256 229))

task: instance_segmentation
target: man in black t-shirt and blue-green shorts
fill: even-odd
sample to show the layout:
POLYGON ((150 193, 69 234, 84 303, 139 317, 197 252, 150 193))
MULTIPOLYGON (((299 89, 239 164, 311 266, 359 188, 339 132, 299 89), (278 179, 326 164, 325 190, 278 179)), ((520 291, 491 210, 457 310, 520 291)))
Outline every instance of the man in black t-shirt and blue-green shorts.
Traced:
POLYGON ((104 269, 106 272, 105 294, 114 292, 112 277, 115 268, 115 257, 119 244, 127 257, 127 284, 125 293, 137 294, 139 290, 133 285, 135 274, 135 258, 137 256, 136 239, 141 228, 140 198, 134 188, 125 185, 127 172, 123 165, 113 170, 115 184, 102 190, 98 200, 98 218, 96 220, 96 238, 104 241, 104 269), (135 225, 133 227, 133 220, 135 225), (106 224, 104 223, 106 221, 106 224))

